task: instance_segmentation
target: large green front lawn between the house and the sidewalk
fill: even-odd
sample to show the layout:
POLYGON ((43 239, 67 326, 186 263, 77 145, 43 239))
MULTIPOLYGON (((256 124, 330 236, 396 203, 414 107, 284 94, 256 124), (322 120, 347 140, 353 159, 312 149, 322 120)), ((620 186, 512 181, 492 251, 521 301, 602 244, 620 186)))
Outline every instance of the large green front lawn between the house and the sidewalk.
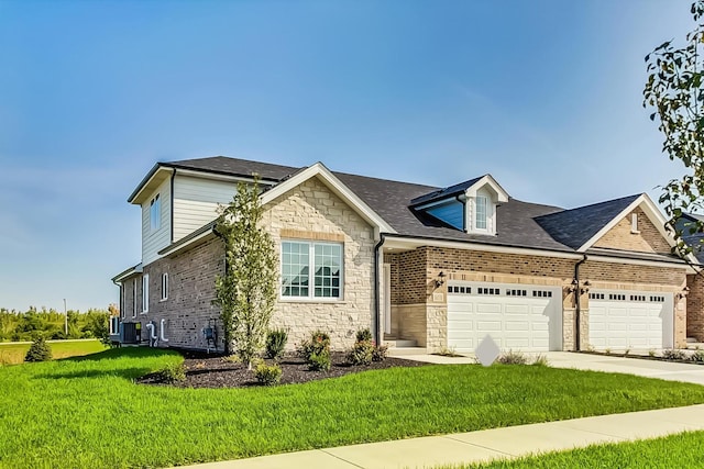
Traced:
POLYGON ((123 348, 0 368, 0 466, 164 467, 704 402, 695 384, 530 366, 249 389, 132 382, 180 359, 123 348))

